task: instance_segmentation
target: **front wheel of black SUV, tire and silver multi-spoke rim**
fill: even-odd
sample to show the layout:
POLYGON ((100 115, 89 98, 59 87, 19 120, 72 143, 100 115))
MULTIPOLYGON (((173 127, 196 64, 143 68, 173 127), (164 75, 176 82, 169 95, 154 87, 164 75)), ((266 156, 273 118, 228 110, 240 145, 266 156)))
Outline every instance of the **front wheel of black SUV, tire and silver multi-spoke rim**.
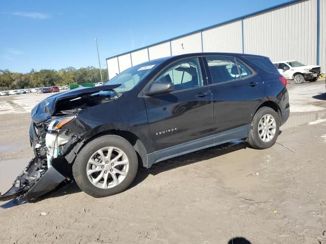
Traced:
POLYGON ((132 145, 120 136, 105 135, 87 143, 72 166, 78 187, 93 197, 107 197, 130 186, 138 170, 132 145))

